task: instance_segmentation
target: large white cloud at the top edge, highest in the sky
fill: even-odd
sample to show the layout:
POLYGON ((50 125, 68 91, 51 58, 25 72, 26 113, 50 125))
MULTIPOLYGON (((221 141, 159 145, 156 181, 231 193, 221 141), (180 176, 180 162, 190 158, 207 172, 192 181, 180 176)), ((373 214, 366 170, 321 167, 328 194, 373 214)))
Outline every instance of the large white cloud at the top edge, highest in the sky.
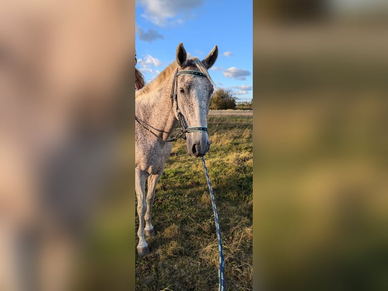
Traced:
POLYGON ((205 0, 137 0, 137 4, 145 10, 141 16, 158 26, 164 26, 168 21, 182 24, 181 14, 184 18, 192 17, 192 10, 204 3, 205 0))

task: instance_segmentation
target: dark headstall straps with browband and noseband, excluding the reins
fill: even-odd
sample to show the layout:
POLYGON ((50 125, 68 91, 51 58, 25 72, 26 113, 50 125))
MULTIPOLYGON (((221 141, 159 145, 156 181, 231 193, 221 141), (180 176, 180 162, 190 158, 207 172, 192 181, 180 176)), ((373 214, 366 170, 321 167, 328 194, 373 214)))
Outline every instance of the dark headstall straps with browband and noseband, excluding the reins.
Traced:
POLYGON ((171 105, 174 105, 175 101, 175 111, 178 116, 179 124, 180 124, 180 130, 181 134, 180 137, 183 139, 186 139, 186 136, 183 136, 183 133, 188 132, 195 132, 195 131, 208 131, 206 127, 198 126, 198 127, 188 127, 184 118, 183 114, 181 113, 179 107, 178 107, 178 92, 176 91, 176 88, 178 87, 178 76, 179 75, 191 75, 196 77, 202 77, 202 78, 208 78, 203 72, 200 71, 193 71, 193 70, 180 70, 176 69, 174 80, 172 81, 172 88, 171 88, 171 105))

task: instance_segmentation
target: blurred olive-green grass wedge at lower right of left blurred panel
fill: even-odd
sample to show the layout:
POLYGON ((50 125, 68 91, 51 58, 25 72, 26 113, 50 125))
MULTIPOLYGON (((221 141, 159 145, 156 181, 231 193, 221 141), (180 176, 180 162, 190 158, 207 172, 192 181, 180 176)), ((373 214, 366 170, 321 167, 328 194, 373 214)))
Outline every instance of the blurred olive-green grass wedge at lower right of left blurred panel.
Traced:
MULTIPOLYGON (((134 96, 133 96, 134 98, 134 96)), ((134 112, 131 113, 134 116, 134 112)), ((71 290, 106 291, 135 288, 134 133, 129 127, 120 147, 122 165, 95 205, 94 220, 84 234, 71 290)))

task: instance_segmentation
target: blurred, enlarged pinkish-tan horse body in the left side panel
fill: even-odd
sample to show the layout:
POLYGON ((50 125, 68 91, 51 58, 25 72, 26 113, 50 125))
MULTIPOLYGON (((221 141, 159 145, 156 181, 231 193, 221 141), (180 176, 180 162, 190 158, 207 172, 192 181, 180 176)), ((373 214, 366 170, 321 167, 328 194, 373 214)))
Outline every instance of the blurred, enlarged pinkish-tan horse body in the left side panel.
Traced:
POLYGON ((134 6, 0 6, 0 290, 69 290, 92 205, 118 166, 117 113, 133 108, 134 6))

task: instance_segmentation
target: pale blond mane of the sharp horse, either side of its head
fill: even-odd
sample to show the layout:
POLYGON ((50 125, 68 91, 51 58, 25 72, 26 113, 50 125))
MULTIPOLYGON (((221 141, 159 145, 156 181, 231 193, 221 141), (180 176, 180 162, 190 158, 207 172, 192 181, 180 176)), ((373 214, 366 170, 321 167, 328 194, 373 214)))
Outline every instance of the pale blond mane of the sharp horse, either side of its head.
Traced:
MULTIPOLYGON (((202 61, 200 61, 197 57, 192 57, 190 59, 187 59, 187 65, 188 66, 189 65, 196 65, 198 67, 198 69, 203 74, 205 74, 206 77, 208 77, 208 79, 210 80, 212 85, 215 87, 213 80, 209 76, 208 70, 206 69, 206 67, 204 66, 202 61)), ((174 60, 155 79, 153 79, 149 84, 145 85, 142 89, 137 91, 136 95, 135 95, 136 98, 140 97, 144 94, 147 94, 147 93, 151 92, 152 90, 154 90, 155 88, 159 87, 160 84, 162 84, 164 81, 166 81, 171 76, 173 71, 176 70, 177 66, 178 66, 178 64, 177 64, 176 60, 174 60)))

